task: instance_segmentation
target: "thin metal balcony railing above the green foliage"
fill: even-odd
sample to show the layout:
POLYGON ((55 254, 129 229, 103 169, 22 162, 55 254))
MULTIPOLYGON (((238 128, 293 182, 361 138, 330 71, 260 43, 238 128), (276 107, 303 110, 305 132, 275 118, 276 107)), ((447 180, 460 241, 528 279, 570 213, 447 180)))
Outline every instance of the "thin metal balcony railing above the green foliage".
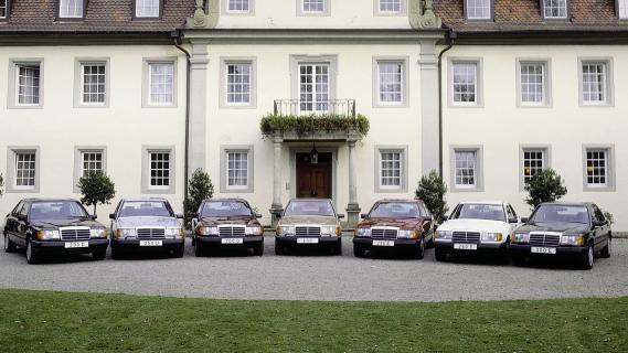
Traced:
POLYGON ((275 116, 340 115, 355 118, 355 99, 276 99, 275 116))

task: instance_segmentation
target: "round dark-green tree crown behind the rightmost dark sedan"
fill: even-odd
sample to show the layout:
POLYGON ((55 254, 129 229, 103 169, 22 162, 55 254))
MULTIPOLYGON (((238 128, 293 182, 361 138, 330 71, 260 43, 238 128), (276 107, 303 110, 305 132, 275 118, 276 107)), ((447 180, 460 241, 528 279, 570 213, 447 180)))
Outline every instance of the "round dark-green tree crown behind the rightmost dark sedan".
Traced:
POLYGON ((563 185, 563 179, 553 169, 544 169, 530 178, 525 185, 529 196, 525 202, 532 208, 544 202, 554 202, 567 193, 567 188, 563 185))

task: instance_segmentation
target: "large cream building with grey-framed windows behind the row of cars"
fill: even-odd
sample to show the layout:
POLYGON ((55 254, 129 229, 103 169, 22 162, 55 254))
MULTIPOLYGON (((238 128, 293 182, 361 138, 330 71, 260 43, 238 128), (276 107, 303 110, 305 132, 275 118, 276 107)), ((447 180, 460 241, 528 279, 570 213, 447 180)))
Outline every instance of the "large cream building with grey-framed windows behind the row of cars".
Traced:
POLYGON ((78 196, 92 169, 119 197, 180 210, 203 169, 266 224, 291 197, 331 197, 351 226, 436 170, 450 205, 499 199, 526 216, 526 180, 553 168, 565 200, 628 231, 628 1, 13 0, 0 18, 2 3, 4 213, 78 196), (370 129, 260 130, 321 116, 370 129))

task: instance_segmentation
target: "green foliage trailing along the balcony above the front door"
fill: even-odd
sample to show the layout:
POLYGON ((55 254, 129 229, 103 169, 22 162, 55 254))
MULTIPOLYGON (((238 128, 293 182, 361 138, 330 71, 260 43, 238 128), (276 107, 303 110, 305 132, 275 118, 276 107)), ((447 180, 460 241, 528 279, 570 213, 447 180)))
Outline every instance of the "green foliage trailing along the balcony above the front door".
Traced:
POLYGON ((363 115, 355 118, 344 115, 278 116, 267 115, 259 124, 262 135, 272 137, 277 132, 295 131, 298 136, 315 132, 358 132, 361 137, 369 133, 369 119, 363 115))

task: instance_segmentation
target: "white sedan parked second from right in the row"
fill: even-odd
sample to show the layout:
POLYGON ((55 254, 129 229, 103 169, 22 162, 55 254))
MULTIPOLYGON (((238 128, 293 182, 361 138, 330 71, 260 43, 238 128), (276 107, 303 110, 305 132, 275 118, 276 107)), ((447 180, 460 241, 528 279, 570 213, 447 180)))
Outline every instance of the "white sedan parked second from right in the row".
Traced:
POLYGON ((492 252, 505 261, 519 225, 514 208, 505 202, 459 203, 435 234, 436 260, 446 260, 448 254, 492 252))

